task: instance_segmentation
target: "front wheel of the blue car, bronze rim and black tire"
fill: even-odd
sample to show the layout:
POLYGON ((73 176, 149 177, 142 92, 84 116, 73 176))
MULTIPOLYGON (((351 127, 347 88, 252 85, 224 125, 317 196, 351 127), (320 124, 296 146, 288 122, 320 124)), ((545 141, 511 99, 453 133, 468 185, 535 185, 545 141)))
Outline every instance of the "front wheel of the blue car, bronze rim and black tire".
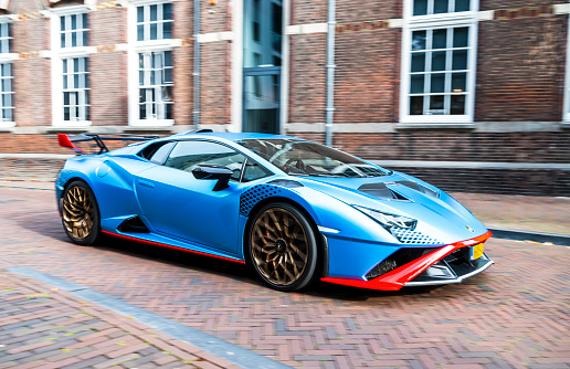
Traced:
POLYGON ((315 231, 306 215, 286 202, 266 204, 254 214, 245 253, 255 273, 274 289, 298 291, 315 278, 315 231))

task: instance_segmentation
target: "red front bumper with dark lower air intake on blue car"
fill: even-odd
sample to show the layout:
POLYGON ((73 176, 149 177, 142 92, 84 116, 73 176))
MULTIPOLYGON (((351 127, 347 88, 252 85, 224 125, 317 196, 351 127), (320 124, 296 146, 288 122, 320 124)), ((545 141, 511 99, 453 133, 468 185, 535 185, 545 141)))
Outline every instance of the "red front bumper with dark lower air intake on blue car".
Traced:
POLYGON ((467 263, 469 265, 465 265, 466 263, 458 257, 461 256, 458 254, 463 253, 462 249, 483 243, 488 240, 490 235, 492 233, 487 231, 477 238, 439 247, 433 252, 372 280, 367 281, 363 277, 358 280, 324 277, 321 281, 380 291, 398 291, 403 286, 460 283, 469 276, 483 272, 493 264, 493 261, 485 254, 467 263))

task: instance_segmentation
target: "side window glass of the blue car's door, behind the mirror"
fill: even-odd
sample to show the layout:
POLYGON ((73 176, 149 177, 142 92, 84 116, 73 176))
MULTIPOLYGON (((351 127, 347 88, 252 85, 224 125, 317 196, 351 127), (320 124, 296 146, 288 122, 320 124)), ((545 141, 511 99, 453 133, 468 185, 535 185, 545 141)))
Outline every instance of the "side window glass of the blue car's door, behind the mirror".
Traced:
POLYGON ((180 141, 170 152, 165 166, 191 171, 196 165, 213 164, 233 170, 232 180, 240 180, 245 157, 240 152, 209 141, 180 141))

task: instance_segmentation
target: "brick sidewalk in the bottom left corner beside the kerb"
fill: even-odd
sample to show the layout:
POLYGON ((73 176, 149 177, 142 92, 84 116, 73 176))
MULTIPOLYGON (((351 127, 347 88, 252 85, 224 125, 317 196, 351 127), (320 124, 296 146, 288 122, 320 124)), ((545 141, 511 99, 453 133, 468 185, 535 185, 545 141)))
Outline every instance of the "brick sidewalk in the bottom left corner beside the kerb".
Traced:
POLYGON ((0 368, 239 368, 130 317, 0 270, 0 368))

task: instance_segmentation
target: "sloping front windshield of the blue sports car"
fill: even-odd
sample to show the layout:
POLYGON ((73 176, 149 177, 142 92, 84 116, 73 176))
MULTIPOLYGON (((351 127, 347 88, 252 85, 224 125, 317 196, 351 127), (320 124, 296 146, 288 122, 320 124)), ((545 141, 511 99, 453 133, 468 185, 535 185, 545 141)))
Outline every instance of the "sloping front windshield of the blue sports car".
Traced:
POLYGON ((239 141, 293 176, 379 177, 391 171, 369 165, 332 148, 298 139, 244 139, 239 141))

